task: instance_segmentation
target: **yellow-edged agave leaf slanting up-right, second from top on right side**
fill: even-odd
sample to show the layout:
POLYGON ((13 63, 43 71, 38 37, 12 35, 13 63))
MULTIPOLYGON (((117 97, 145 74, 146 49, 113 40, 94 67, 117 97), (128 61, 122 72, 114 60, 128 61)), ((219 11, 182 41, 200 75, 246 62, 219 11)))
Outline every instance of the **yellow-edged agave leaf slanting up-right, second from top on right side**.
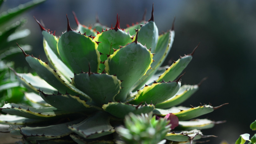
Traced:
POLYGON ((168 82, 173 81, 180 73, 185 69, 188 63, 192 60, 192 55, 186 55, 184 57, 180 57, 179 60, 173 62, 172 65, 165 70, 165 72, 159 76, 156 82, 161 82, 162 80, 168 82))

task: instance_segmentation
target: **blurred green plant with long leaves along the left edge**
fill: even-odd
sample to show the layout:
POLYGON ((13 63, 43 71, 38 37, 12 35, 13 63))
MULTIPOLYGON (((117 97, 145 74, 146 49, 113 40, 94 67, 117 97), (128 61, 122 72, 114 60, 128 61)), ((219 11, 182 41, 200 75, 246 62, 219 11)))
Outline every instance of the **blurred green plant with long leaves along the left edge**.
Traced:
MULTIPOLYGON (((28 29, 17 31, 21 25, 26 22, 23 18, 11 25, 9 21, 44 1, 45 0, 30 1, 0 14, 0 106, 3 106, 6 101, 14 103, 24 102, 23 92, 26 90, 16 79, 15 74, 8 68, 13 67, 14 63, 6 59, 13 57, 16 53, 20 53, 19 47, 13 47, 13 45, 15 45, 17 40, 28 36, 30 31, 28 29), (7 24, 9 24, 8 27, 6 27, 7 24)), ((3 2, 4 0, 0 0, 0 6, 3 2)), ((22 45, 22 47, 24 51, 31 50, 31 46, 29 45, 22 45)))

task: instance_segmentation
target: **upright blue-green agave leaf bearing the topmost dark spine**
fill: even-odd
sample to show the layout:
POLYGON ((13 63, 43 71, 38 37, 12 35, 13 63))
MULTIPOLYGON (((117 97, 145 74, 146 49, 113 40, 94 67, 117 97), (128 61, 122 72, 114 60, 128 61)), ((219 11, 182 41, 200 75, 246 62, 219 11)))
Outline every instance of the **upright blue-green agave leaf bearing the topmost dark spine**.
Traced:
POLYGON ((148 49, 154 52, 158 41, 158 28, 154 21, 150 20, 141 26, 138 34, 138 42, 146 45, 148 49))

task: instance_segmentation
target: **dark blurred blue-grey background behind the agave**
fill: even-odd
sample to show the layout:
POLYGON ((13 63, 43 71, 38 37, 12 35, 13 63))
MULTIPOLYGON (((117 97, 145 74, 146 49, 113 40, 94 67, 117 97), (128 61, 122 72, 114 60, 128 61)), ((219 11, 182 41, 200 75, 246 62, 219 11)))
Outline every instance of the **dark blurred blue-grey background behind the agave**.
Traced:
MULTIPOLYGON (((7 0, 2 6, 2 11, 25 2, 27 0, 7 0)), ((193 60, 185 69, 182 84, 197 84, 204 77, 209 78, 201 85, 200 90, 182 105, 199 106, 200 102, 211 102, 213 106, 218 106, 229 102, 229 105, 202 116, 215 121, 227 120, 225 124, 203 130, 205 135, 218 136, 211 138, 208 143, 216 144, 226 140, 232 144, 240 134, 252 135, 249 125, 256 119, 256 1, 49 0, 22 15, 28 19, 24 28, 31 30, 31 35, 23 44, 32 45, 33 51, 30 54, 41 55, 40 58, 47 61, 42 35, 33 16, 42 20, 46 28, 56 30, 56 35, 60 36, 67 27, 66 14, 71 28, 76 28, 72 11, 76 12, 80 23, 84 25, 93 24, 95 14, 98 13, 100 22, 109 27, 111 24, 115 25, 118 13, 121 17, 121 28, 126 28, 126 24, 131 25, 132 22, 142 19, 144 9, 148 10, 148 20, 153 2, 154 20, 159 32, 169 30, 173 18, 176 17, 174 43, 164 64, 168 64, 170 59, 178 60, 179 55, 192 52, 201 42, 193 60)), ((22 54, 18 55, 15 61, 15 67, 28 67, 22 54)))

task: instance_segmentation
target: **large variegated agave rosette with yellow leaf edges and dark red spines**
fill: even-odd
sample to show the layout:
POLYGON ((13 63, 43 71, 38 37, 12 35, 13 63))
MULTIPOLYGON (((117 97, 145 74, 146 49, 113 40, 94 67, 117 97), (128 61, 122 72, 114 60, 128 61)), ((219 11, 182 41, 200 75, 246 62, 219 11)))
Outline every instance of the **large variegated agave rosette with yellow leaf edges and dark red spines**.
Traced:
POLYGON ((125 118, 125 125, 128 129, 133 127, 141 138, 145 136, 140 129, 143 126, 150 126, 145 128, 150 132, 154 129, 159 140, 176 143, 192 143, 207 137, 200 130, 220 122, 187 120, 210 113, 222 105, 176 107, 201 84, 181 86, 182 75, 179 76, 197 47, 166 69, 161 68, 172 46, 174 29, 172 26, 170 31, 158 36, 153 10, 147 22, 143 20, 126 29, 120 28, 118 18, 114 28, 99 22, 86 27, 74 14, 77 29, 71 29, 68 20, 67 31, 59 38, 36 20, 44 36, 44 51, 49 62, 26 54, 20 47, 38 76, 13 70, 20 82, 32 91, 27 93, 27 98, 35 105, 5 104, 0 109, 8 114, 0 115, 0 122, 21 125, 9 131, 21 134, 30 142, 114 143, 116 130, 121 132, 121 138, 124 136, 124 131, 115 127, 123 124, 125 116, 132 113, 130 120, 125 118), (158 120, 148 113, 159 117, 158 120), (161 118, 171 119, 172 124, 170 116, 179 120, 179 125, 175 129, 172 127, 172 131, 169 131, 170 125, 166 127, 169 123, 161 118), (144 119, 143 122, 140 119, 144 119))

